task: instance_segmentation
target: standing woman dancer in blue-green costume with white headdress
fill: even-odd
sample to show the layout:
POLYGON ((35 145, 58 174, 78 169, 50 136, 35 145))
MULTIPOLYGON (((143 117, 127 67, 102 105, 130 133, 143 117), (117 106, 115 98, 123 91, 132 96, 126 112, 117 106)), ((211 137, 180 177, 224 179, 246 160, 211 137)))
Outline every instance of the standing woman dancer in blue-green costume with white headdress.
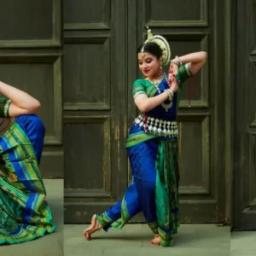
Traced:
POLYGON ((93 216, 90 227, 84 230, 88 240, 101 228, 123 228, 139 212, 155 234, 154 245, 171 247, 172 235, 179 227, 177 108, 183 83, 202 67, 207 54, 176 57, 167 77, 161 66, 168 62, 168 43, 160 36, 154 38, 150 30, 148 38, 151 40, 137 52, 146 79, 133 84, 134 101, 142 113, 131 126, 125 145, 132 182, 120 201, 93 216))

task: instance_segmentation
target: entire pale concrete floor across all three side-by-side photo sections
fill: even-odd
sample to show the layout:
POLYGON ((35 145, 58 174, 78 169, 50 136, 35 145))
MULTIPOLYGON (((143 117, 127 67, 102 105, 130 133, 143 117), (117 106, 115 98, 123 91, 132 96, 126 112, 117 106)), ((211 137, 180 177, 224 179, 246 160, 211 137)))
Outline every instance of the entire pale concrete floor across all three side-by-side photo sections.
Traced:
POLYGON ((255 256, 256 231, 232 232, 214 224, 182 224, 174 247, 154 247, 147 224, 127 224, 123 230, 97 232, 86 241, 88 225, 66 224, 63 229, 63 180, 44 180, 56 224, 54 234, 19 245, 0 246, 6 256, 255 256), (63 241, 64 231, 64 241, 63 241), (64 243, 64 249, 63 249, 64 243))

